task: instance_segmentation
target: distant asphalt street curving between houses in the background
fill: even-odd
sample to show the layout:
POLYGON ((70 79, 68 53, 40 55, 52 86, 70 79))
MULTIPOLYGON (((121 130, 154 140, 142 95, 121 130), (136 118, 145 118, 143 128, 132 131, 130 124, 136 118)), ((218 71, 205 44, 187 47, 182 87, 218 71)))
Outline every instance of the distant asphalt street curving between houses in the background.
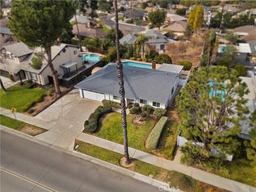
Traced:
MULTIPOLYGON (((116 27, 116 23, 114 21, 111 20, 112 17, 114 17, 115 15, 107 15, 107 16, 102 16, 100 17, 100 20, 103 22, 104 26, 110 26, 111 28, 115 28, 116 27)), ((120 24, 118 25, 119 29, 123 32, 123 33, 136 33, 136 32, 142 32, 145 29, 143 27, 139 27, 139 26, 130 26, 130 25, 125 25, 125 24, 120 24)))

